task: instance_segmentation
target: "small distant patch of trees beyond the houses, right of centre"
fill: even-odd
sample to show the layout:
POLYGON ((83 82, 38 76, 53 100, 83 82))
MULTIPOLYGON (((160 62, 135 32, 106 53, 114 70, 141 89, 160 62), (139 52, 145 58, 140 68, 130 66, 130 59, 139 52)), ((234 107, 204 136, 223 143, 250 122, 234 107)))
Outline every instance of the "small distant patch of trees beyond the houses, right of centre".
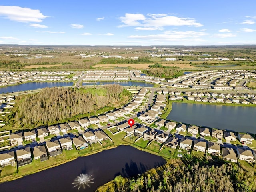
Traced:
POLYGON ((166 77, 175 78, 183 75, 182 70, 166 69, 166 68, 151 68, 149 70, 144 70, 143 72, 150 76, 163 77, 163 78, 166 78, 166 77))

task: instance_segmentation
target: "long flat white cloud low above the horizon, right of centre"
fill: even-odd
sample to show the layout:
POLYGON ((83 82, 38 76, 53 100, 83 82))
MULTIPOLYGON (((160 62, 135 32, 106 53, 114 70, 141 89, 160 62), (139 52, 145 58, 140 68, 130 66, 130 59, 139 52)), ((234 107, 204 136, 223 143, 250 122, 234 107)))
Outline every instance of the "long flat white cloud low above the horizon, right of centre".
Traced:
POLYGON ((208 35, 205 32, 196 32, 196 31, 166 31, 164 34, 154 34, 154 35, 130 35, 128 38, 136 39, 147 39, 154 41, 181 41, 187 40, 188 38, 199 38, 200 36, 208 35))

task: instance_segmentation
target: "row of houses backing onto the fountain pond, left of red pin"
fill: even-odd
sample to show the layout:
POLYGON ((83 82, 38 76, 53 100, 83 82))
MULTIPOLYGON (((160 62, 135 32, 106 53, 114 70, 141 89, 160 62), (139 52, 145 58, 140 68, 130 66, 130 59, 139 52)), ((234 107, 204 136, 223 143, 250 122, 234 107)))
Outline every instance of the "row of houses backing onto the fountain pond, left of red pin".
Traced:
POLYGON ((0 166, 14 165, 23 166, 32 162, 32 156, 35 160, 45 161, 49 156, 56 156, 62 153, 62 150, 72 150, 73 144, 78 150, 88 147, 88 142, 101 142, 108 140, 109 137, 102 130, 88 131, 82 136, 75 138, 60 138, 54 141, 46 141, 45 145, 38 145, 30 148, 29 146, 15 151, 8 151, 0 154, 0 166))

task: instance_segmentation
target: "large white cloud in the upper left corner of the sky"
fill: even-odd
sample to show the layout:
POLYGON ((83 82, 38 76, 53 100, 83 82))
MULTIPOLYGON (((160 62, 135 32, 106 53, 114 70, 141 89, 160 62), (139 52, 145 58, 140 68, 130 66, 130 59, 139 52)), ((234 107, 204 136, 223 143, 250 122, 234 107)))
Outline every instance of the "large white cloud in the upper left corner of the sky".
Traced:
POLYGON ((0 16, 18 22, 42 22, 47 17, 38 9, 19 6, 0 6, 0 16))

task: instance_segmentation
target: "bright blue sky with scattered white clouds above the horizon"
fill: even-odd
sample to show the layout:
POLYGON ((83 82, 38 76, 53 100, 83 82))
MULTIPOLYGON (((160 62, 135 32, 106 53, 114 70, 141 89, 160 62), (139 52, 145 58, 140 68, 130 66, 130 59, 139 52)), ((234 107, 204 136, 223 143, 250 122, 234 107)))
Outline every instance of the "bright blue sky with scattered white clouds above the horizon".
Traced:
POLYGON ((8 0, 0 44, 256 44, 255 0, 8 0))

